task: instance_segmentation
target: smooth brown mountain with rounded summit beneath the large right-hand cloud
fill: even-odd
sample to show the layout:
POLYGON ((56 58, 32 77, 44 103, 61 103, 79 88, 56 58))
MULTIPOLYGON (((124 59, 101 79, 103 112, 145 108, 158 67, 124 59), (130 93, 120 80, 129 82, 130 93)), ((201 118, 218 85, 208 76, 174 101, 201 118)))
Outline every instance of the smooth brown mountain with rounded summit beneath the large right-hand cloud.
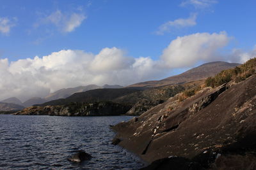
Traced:
POLYGON ((204 80, 209 76, 214 76, 224 69, 230 69, 232 67, 239 66, 237 63, 229 63, 223 61, 209 62, 202 64, 201 66, 189 69, 188 71, 176 75, 164 78, 163 80, 145 81, 129 85, 128 87, 159 87, 163 85, 186 83, 189 81, 204 80))

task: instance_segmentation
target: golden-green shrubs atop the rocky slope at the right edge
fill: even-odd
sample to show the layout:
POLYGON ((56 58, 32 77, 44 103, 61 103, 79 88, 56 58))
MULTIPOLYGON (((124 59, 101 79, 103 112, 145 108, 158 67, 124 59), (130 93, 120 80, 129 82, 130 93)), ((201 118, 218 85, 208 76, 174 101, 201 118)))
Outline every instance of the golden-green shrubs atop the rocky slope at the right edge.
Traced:
POLYGON ((240 66, 233 69, 226 69, 216 74, 214 77, 209 77, 205 80, 205 86, 218 87, 224 83, 234 80, 236 83, 245 80, 255 74, 256 58, 250 59, 240 66))

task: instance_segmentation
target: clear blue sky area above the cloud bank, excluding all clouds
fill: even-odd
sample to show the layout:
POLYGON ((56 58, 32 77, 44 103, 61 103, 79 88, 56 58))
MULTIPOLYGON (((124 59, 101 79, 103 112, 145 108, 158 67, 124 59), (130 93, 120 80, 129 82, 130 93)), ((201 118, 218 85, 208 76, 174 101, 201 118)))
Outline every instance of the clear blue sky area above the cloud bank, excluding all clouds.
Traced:
POLYGON ((17 18, 8 35, 1 34, 1 57, 10 60, 49 55, 63 49, 97 53, 116 46, 133 57, 161 55, 172 39, 195 32, 226 31, 233 46, 255 45, 256 1, 219 1, 207 8, 180 6, 184 1, 1 1, 1 17, 17 18), (81 9, 79 9, 81 8, 81 9), (79 11, 79 10, 81 11, 79 11), (87 18, 72 32, 52 24, 34 27, 45 15, 57 10, 83 13, 87 18), (196 25, 154 34, 159 25, 198 13, 196 25))

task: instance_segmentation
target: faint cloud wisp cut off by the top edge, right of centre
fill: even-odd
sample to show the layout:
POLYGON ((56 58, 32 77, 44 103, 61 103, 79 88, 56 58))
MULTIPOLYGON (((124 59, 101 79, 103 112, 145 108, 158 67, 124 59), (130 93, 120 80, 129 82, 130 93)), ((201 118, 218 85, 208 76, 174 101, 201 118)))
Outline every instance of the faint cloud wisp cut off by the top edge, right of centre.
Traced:
POLYGON ((216 0, 186 0, 183 1, 180 6, 193 5, 195 8, 207 8, 212 4, 216 4, 218 1, 216 0))

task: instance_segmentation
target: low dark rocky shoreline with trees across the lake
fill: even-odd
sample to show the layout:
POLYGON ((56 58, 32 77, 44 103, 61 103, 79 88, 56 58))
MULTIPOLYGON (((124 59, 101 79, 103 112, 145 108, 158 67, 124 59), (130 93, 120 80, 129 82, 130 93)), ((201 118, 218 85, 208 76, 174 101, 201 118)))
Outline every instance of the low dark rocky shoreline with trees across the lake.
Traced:
POLYGON ((115 116, 124 115, 131 106, 112 102, 71 103, 65 106, 31 106, 14 115, 115 116))

